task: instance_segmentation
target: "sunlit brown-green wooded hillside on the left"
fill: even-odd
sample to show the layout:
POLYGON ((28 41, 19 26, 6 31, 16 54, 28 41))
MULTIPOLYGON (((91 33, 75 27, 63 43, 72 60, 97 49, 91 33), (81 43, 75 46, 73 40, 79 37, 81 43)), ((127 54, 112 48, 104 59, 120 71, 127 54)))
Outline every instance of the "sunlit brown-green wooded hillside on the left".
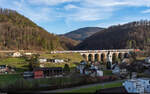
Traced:
POLYGON ((60 37, 47 32, 16 11, 0 9, 0 50, 63 50, 67 48, 66 45, 62 47, 60 40, 60 37))

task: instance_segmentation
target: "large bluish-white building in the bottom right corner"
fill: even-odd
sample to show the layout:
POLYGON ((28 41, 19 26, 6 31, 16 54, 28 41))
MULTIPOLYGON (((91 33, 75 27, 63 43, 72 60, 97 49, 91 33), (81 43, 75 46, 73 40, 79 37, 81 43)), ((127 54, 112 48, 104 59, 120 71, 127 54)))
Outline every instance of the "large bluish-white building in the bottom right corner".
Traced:
POLYGON ((128 93, 150 93, 150 79, 130 79, 123 83, 128 93))

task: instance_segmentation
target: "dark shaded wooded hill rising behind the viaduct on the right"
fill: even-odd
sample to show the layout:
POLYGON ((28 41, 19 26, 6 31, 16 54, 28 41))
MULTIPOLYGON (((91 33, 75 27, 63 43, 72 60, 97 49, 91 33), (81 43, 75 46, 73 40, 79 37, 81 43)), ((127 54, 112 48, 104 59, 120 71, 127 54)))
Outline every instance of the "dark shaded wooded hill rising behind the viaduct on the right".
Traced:
POLYGON ((76 49, 126 49, 150 47, 150 21, 111 26, 80 43, 76 49))

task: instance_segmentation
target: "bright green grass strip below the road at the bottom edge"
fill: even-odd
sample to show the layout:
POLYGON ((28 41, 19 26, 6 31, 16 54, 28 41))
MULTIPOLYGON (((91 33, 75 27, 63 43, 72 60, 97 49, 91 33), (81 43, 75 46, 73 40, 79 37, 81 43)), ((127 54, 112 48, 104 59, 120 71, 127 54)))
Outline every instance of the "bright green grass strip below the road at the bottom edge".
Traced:
POLYGON ((105 89, 105 88, 113 88, 122 86, 122 82, 109 83, 105 85, 97 85, 91 86, 88 88, 75 89, 70 91, 65 91, 64 93, 94 93, 96 90, 105 89))

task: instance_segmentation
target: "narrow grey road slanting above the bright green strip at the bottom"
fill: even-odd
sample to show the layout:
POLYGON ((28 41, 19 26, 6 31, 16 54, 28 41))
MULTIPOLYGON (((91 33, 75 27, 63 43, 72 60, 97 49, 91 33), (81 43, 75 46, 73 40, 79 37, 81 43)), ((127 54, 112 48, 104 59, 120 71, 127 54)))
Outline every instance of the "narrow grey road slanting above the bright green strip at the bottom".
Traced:
POLYGON ((70 90, 77 90, 77 89, 81 89, 81 88, 88 88, 88 87, 93 87, 93 86, 97 86, 97 85, 105 85, 105 84, 111 84, 111 83, 115 83, 115 82, 121 82, 121 81, 125 81, 125 80, 117 80, 117 81, 112 81, 112 82, 105 82, 105 83, 96 83, 96 84, 90 84, 90 85, 83 85, 83 86, 78 86, 78 87, 72 87, 72 88, 64 88, 64 89, 56 89, 56 90, 50 90, 50 91, 40 91, 37 93, 61 93, 64 91, 70 91, 70 90))

